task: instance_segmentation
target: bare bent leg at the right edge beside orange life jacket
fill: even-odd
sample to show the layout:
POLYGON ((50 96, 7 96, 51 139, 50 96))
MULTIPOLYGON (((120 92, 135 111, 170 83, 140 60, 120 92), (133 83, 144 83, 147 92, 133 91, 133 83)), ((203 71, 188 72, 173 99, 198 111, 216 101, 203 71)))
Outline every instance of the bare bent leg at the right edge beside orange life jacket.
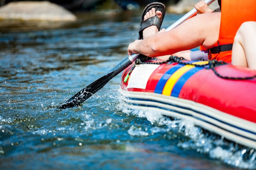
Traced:
POLYGON ((232 48, 232 64, 256 70, 256 22, 244 22, 238 29, 232 48))

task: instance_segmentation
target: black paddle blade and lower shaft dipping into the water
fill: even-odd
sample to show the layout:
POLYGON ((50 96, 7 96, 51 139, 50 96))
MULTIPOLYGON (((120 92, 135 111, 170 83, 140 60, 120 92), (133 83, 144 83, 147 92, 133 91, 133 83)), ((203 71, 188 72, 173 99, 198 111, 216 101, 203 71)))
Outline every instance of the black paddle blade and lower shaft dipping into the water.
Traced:
POLYGON ((118 75, 121 71, 123 71, 125 68, 130 66, 132 62, 129 58, 126 58, 117 66, 112 68, 106 75, 103 75, 99 79, 92 82, 87 87, 83 88, 81 91, 76 93, 73 97, 67 100, 64 104, 60 104, 57 108, 72 108, 74 106, 79 106, 82 104, 85 100, 87 100, 89 97, 91 97, 94 93, 99 91, 103 86, 105 86, 113 77, 118 75))

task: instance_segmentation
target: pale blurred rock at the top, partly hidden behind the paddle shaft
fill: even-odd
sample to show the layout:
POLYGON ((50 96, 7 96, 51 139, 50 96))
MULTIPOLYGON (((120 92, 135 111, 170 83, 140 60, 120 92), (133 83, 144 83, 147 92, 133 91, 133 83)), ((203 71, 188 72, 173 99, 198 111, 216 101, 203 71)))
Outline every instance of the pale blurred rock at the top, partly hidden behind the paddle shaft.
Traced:
MULTIPOLYGON (((200 0, 180 0, 177 4, 169 6, 166 10, 170 13, 186 13, 194 8, 195 4, 200 0)), ((220 7, 218 1, 210 4, 209 8, 216 9, 220 7)))

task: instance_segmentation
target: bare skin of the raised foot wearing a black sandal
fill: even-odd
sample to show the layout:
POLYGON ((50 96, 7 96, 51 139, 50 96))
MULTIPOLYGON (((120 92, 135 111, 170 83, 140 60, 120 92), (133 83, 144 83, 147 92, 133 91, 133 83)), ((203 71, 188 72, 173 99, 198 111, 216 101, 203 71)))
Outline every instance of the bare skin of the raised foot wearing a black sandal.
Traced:
MULTIPOLYGON (((155 11, 155 8, 152 8, 151 10, 149 10, 146 15, 144 15, 144 21, 147 20, 148 18, 157 16, 159 19, 162 18, 162 12, 161 11, 155 11)), ((150 35, 154 35, 158 33, 158 29, 157 26, 152 25, 149 26, 148 28, 143 30, 143 39, 147 38, 150 35)))

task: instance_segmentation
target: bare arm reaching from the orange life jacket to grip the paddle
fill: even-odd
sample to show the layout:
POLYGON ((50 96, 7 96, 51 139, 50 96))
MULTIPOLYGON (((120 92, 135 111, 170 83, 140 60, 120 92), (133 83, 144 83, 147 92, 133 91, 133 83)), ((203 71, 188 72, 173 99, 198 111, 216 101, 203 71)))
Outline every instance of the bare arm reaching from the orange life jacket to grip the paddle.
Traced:
POLYGON ((157 57, 193 49, 201 44, 211 48, 218 40, 219 29, 220 13, 204 13, 186 20, 170 31, 136 40, 128 46, 128 54, 141 53, 157 57))

